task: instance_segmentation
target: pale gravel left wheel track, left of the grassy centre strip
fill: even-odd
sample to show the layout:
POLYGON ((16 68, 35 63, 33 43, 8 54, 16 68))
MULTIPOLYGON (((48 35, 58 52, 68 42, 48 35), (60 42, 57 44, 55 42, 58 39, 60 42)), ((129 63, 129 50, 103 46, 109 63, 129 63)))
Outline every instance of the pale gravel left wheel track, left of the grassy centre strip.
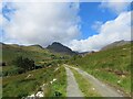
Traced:
POLYGON ((68 76, 68 87, 66 87, 66 97, 83 97, 79 86, 75 81, 73 73, 69 67, 65 67, 66 76, 68 76))

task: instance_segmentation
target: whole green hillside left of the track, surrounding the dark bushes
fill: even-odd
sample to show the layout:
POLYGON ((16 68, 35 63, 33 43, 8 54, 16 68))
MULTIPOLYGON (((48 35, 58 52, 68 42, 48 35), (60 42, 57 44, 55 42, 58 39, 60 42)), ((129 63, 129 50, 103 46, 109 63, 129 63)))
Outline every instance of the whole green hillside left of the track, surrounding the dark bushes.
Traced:
POLYGON ((2 68, 0 77, 2 77, 3 97, 27 97, 37 94, 44 84, 48 84, 45 88, 47 97, 54 97, 57 90, 61 90, 62 96, 65 96, 65 70, 58 66, 61 66, 62 62, 66 61, 69 56, 51 53, 40 45, 22 46, 1 43, 0 47, 0 52, 2 52, 0 53, 2 54, 1 61, 6 63, 6 66, 0 66, 0 69, 2 68), (19 56, 33 59, 35 67, 41 68, 22 73, 21 68, 13 64, 13 61, 19 56), (51 85, 50 81, 54 78, 57 78, 57 84, 51 85))

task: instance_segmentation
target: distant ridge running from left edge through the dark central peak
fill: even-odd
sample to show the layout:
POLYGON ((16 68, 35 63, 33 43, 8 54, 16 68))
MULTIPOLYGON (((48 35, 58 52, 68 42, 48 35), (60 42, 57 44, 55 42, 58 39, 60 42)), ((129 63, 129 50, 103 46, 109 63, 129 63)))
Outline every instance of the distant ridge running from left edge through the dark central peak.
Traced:
POLYGON ((59 53, 59 54, 65 54, 65 55, 76 55, 76 52, 73 52, 71 48, 62 45, 61 43, 58 42, 53 42, 51 45, 49 45, 48 47, 42 47, 41 45, 29 45, 29 46, 24 46, 24 45, 18 45, 18 44, 4 44, 4 43, 0 43, 0 45, 2 45, 2 47, 13 47, 13 48, 22 48, 22 50, 29 50, 29 51, 50 51, 51 53, 59 53))

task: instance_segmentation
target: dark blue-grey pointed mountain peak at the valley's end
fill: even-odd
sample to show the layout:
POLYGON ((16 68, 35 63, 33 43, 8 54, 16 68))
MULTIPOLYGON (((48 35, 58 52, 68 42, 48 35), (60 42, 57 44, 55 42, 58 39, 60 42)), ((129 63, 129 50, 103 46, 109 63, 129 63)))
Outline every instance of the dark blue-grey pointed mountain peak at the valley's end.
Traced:
POLYGON ((47 47, 49 51, 54 53, 61 53, 61 54, 69 54, 69 55, 76 55, 75 52, 73 52, 71 48, 62 45, 61 43, 53 42, 51 45, 47 47))

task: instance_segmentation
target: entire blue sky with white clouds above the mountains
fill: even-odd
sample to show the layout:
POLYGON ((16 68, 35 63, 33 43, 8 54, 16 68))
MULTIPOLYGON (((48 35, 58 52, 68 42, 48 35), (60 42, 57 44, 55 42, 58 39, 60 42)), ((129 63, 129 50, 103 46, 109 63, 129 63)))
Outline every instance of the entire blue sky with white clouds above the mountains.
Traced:
MULTIPOLYGON (((21 0, 19 0, 21 1, 21 0)), ((126 2, 125 2, 126 1, 126 2)), ((99 2, 0 3, 0 42, 43 47, 60 42, 73 51, 99 51, 115 41, 131 41, 131 3, 99 2)))

